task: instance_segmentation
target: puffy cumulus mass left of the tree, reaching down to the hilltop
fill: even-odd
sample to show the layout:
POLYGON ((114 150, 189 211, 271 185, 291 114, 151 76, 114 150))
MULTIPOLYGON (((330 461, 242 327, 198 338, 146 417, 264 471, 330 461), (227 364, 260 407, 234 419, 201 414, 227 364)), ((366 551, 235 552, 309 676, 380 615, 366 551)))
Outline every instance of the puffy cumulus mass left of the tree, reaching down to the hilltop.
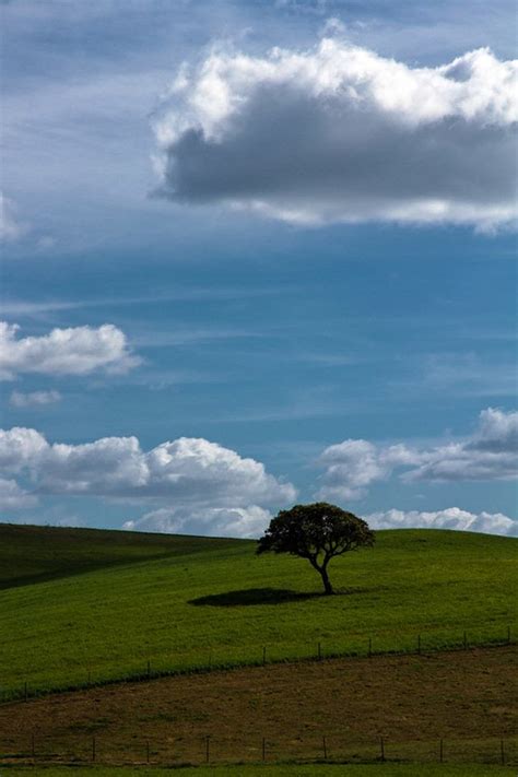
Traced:
POLYGON ((0 468, 32 484, 28 496, 17 481, 5 481, 11 506, 15 499, 31 506, 43 494, 145 502, 155 509, 126 528, 152 531, 255 535, 270 518, 266 506, 296 496, 291 483, 261 462, 203 438, 180 437, 142 450, 137 437, 50 444, 36 429, 13 427, 0 431, 0 468))

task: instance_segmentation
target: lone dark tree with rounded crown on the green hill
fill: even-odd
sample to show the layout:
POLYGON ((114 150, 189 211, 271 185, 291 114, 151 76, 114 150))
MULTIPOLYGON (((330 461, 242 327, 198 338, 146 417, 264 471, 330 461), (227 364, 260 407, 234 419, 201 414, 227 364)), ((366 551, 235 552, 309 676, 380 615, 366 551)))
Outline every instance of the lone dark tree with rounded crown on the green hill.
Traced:
POLYGON ((325 592, 334 593, 328 576, 331 558, 373 544, 374 532, 362 518, 335 505, 317 502, 281 510, 258 541, 256 552, 291 553, 307 558, 321 575, 325 592))

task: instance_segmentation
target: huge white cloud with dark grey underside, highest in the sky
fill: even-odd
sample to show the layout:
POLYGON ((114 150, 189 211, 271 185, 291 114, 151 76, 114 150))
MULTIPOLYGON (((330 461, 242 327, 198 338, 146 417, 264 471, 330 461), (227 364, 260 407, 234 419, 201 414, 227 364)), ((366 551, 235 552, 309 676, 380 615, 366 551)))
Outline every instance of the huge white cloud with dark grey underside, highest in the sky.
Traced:
POLYGON ((293 223, 516 219, 517 62, 412 68, 338 37, 184 66, 154 122, 158 193, 293 223))

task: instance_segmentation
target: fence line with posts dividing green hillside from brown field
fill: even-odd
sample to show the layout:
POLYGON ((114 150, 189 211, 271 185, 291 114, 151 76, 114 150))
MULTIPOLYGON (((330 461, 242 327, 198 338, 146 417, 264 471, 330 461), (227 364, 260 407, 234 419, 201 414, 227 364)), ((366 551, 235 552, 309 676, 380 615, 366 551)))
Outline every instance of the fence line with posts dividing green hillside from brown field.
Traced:
POLYGON ((468 632, 462 633, 460 640, 451 641, 449 645, 442 645, 440 647, 435 647, 434 645, 425 645, 423 635, 417 634, 414 648, 396 648, 396 649, 381 649, 376 650, 374 639, 372 636, 366 637, 366 644, 363 651, 355 650, 328 650, 323 649, 321 641, 315 645, 315 652, 306 656, 284 656, 271 657, 271 649, 275 646, 262 646, 262 657, 260 650, 258 649, 258 658, 256 660, 232 660, 221 661, 220 663, 214 661, 213 649, 209 650, 208 662, 204 664, 192 666, 190 668, 169 668, 169 669, 154 669, 151 659, 145 661, 145 666, 142 667, 141 671, 125 674, 118 678, 98 678, 92 675, 92 670, 85 670, 85 681, 69 683, 64 685, 57 685, 52 688, 45 687, 31 687, 28 681, 23 683, 23 686, 19 690, 13 688, 10 691, 4 691, 0 693, 0 704, 11 704, 20 701, 28 702, 32 698, 38 698, 42 696, 48 696, 58 693, 69 693, 74 691, 86 691, 92 687, 101 687, 104 685, 116 685, 119 683, 127 682, 143 682, 149 680, 156 680, 160 678, 170 678, 188 674, 205 674, 207 672, 214 671, 228 671, 235 669, 245 669, 267 664, 279 664, 279 663, 302 663, 305 661, 321 661, 322 659, 346 659, 346 658, 372 658, 372 657, 382 657, 382 656, 409 656, 409 655, 422 655, 423 652, 435 654, 435 652, 450 652, 454 650, 468 650, 472 648, 496 648, 505 647, 510 645, 517 645, 518 643, 511 638, 510 626, 507 626, 506 636, 502 638, 492 638, 490 640, 474 641, 469 640, 468 632))

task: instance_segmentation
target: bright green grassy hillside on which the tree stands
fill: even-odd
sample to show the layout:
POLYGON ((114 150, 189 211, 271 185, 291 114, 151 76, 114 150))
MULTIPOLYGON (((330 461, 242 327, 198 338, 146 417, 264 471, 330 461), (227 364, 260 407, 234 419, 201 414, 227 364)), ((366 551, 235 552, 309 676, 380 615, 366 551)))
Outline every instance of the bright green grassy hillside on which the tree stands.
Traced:
POLYGON ((0 688, 104 682, 323 655, 414 650, 516 636, 509 538, 380 531, 330 566, 341 596, 299 558, 255 543, 0 526, 0 688), (81 574, 79 574, 81 573, 81 574))

